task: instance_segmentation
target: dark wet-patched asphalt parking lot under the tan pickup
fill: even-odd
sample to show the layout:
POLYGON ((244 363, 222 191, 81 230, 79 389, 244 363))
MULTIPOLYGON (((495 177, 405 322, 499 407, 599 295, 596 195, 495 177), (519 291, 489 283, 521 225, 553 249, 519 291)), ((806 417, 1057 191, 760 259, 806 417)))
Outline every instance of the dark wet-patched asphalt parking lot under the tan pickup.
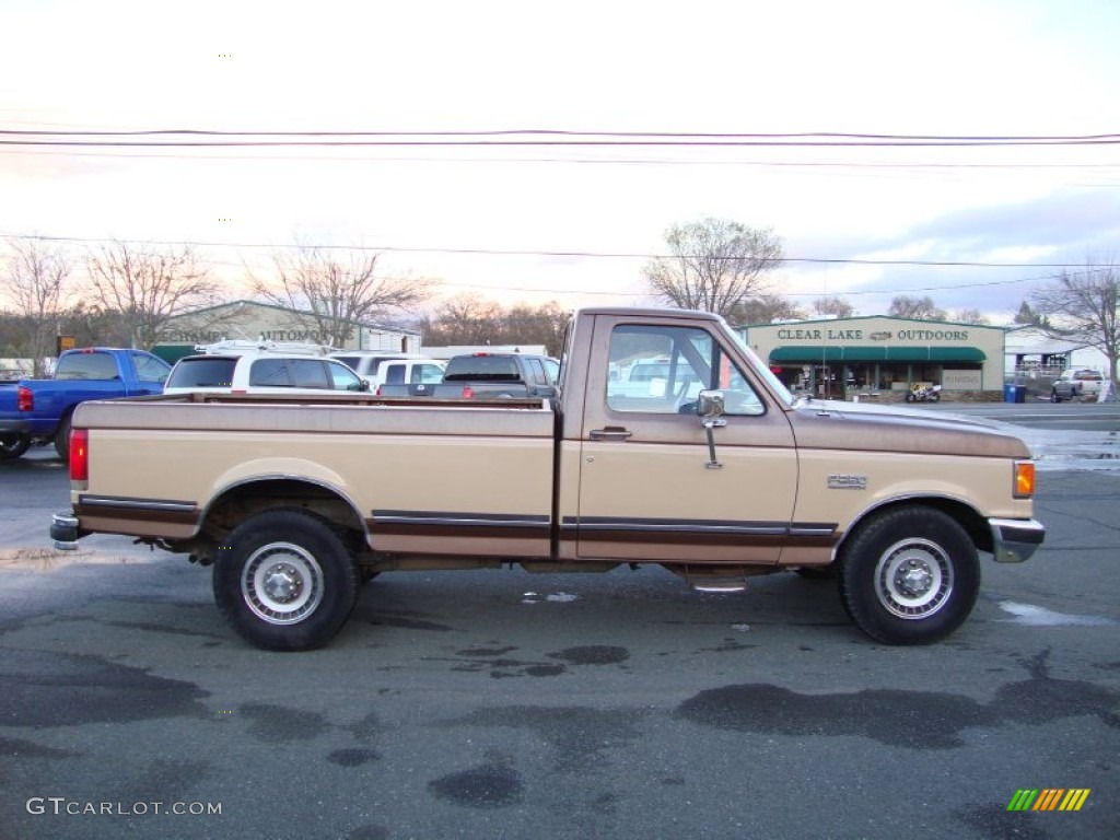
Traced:
POLYGON ((0 464, 0 837, 1114 838, 1120 472, 1046 426, 1095 407, 1039 408, 1046 544, 916 648, 830 581, 651 568, 386 573, 326 650, 264 653, 207 570, 49 550, 62 465, 0 464), (1089 793, 1008 810, 1036 788, 1089 793))

